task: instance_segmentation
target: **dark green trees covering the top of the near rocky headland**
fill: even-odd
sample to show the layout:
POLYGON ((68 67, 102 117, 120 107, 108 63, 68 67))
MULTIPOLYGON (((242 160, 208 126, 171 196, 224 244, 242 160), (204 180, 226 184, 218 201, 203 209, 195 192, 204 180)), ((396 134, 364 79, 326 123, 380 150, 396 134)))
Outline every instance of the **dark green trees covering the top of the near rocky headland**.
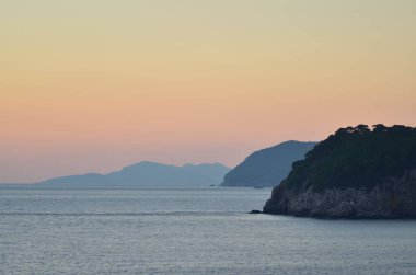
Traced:
POLYGON ((371 188, 388 176, 416 169, 416 128, 367 125, 338 129, 296 161, 285 180, 289 188, 313 186, 371 188))

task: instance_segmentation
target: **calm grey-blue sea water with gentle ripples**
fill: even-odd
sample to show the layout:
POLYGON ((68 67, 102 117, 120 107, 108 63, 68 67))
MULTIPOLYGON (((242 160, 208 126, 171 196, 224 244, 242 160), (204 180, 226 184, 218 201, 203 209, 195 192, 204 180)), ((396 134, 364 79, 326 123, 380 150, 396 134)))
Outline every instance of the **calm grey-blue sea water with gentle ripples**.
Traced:
POLYGON ((416 221, 246 214, 269 194, 0 187, 0 274, 416 274, 416 221))

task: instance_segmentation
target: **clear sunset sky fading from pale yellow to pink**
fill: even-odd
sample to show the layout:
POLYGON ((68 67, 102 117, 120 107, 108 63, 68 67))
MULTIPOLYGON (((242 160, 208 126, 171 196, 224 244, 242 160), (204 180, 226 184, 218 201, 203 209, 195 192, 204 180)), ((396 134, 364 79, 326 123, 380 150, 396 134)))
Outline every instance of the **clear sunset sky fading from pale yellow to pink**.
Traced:
POLYGON ((414 0, 0 0, 0 182, 416 125, 414 0))

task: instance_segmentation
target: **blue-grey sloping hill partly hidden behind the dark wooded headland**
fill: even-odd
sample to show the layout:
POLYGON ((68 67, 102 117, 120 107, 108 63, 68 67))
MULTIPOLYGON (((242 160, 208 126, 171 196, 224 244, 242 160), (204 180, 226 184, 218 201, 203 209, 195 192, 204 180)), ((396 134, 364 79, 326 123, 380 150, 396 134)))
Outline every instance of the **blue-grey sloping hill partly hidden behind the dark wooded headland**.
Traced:
POLYGON ((290 172, 292 162, 304 158, 316 142, 286 141, 256 151, 226 174, 222 186, 273 187, 290 172))

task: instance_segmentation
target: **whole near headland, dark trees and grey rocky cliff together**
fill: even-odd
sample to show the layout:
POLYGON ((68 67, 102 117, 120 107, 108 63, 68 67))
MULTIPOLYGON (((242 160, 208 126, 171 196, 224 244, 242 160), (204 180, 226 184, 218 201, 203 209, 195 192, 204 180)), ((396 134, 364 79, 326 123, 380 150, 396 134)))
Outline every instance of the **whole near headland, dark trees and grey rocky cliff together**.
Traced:
POLYGON ((317 145, 273 190, 266 214, 416 218, 416 128, 365 125, 317 145))

